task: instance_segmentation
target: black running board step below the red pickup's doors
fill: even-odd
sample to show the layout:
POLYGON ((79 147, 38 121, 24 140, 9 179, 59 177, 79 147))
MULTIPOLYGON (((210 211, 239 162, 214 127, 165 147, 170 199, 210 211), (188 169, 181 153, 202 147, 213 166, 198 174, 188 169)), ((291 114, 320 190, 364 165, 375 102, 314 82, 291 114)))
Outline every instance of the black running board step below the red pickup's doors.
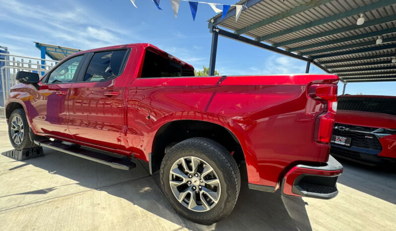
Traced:
POLYGON ((130 170, 136 167, 136 164, 131 160, 129 160, 127 157, 124 158, 113 157, 103 153, 75 147, 74 145, 67 145, 64 143, 54 142, 51 140, 46 140, 46 141, 35 140, 34 143, 42 147, 54 149, 90 161, 95 161, 104 165, 111 166, 116 169, 130 170))

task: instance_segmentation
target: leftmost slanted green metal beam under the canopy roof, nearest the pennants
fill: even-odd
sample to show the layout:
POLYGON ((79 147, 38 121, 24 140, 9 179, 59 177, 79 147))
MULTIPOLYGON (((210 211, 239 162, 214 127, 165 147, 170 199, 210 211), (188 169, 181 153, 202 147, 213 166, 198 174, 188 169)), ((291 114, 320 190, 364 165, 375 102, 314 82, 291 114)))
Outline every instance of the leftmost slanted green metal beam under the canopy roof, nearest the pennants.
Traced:
POLYGON ((275 22, 275 21, 277 21, 279 19, 282 19, 282 18, 285 18, 285 17, 289 17, 289 16, 291 16, 293 14, 296 14, 296 13, 300 13, 302 11, 308 10, 308 9, 316 7, 318 5, 322 5, 322 4, 327 3, 329 1, 331 1, 331 0, 312 0, 312 1, 306 2, 306 3, 302 4, 302 5, 299 5, 299 6, 296 6, 294 8, 291 8, 291 9, 289 9, 287 11, 281 12, 280 14, 277 14, 277 15, 272 16, 270 18, 266 18, 266 19, 264 19, 262 21, 256 22, 256 23, 254 23, 252 25, 249 25, 249 26, 247 26, 245 28, 237 30, 234 33, 237 34, 237 35, 244 34, 244 33, 248 32, 248 31, 251 31, 251 30, 257 29, 259 27, 265 26, 266 24, 275 22))

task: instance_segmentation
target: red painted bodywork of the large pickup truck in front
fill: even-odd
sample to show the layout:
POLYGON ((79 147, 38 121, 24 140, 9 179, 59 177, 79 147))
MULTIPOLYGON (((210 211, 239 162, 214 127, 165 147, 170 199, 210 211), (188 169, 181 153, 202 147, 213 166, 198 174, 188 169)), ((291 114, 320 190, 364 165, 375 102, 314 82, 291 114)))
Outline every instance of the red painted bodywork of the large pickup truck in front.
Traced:
POLYGON ((144 161, 149 159, 158 129, 168 122, 192 119, 222 125, 239 140, 253 184, 276 187, 298 163, 327 162, 330 145, 314 141, 315 118, 324 105, 309 97, 308 88, 316 83, 337 84, 337 76, 139 78, 145 49, 167 54, 149 44, 86 52, 111 48, 133 50, 119 77, 61 88, 40 83, 38 91, 19 84, 12 88, 9 102, 23 102, 38 135, 133 153, 144 161), (29 93, 21 93, 26 89, 29 93), (56 95, 59 90, 67 91, 67 96, 56 95), (104 95, 107 91, 120 94, 109 97, 104 95), (54 105, 45 104, 48 99, 54 105))

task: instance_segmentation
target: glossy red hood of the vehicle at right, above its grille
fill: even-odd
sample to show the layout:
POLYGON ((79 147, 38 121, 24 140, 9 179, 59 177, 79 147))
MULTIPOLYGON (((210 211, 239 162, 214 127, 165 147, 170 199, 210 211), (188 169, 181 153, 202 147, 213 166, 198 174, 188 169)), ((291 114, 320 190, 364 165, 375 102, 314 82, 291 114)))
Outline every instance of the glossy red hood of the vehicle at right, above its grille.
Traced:
POLYGON ((365 127, 396 128, 396 116, 383 113, 337 110, 335 122, 365 127))

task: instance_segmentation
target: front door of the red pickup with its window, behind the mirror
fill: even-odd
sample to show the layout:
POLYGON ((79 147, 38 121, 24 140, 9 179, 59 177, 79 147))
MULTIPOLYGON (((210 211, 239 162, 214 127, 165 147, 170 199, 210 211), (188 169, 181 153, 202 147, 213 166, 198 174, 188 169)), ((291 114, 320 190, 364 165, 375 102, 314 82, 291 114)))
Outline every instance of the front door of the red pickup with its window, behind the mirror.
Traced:
POLYGON ((69 58, 44 77, 30 98, 32 126, 37 132, 72 139, 67 128, 67 98, 83 56, 69 58))

